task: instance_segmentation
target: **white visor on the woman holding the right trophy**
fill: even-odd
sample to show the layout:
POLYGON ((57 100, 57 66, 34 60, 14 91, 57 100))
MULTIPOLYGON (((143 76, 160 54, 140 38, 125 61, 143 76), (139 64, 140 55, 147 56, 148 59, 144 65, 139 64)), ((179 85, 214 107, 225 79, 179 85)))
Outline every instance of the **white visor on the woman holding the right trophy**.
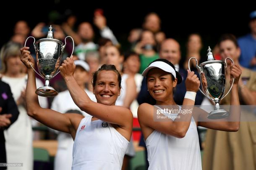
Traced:
POLYGON ((153 68, 159 68, 162 69, 163 71, 166 71, 174 76, 176 78, 176 72, 175 69, 172 68, 169 64, 163 62, 163 61, 156 61, 154 63, 151 63, 143 72, 142 76, 146 77, 146 74, 149 72, 149 70, 153 68))

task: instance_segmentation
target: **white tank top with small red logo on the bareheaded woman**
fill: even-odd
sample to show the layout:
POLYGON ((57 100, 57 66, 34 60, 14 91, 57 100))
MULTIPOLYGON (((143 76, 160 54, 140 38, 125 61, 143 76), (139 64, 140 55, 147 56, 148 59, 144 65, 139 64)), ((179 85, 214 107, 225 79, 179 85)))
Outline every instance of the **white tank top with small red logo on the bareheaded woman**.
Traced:
POLYGON ((72 170, 121 170, 129 141, 110 123, 84 117, 73 145, 72 170))

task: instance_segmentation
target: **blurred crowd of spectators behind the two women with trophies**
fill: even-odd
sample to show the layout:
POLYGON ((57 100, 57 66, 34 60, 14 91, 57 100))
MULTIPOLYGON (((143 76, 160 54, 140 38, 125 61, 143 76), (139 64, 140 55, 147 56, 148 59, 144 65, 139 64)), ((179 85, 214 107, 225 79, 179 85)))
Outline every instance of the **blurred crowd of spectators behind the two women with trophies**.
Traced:
MULTIPOLYGON (((239 83, 240 104, 256 105, 256 10, 251 12, 248 17, 250 19, 250 33, 238 38, 232 34, 225 34, 220 37, 222 39, 220 39, 219 43, 216 42, 216 46, 212 47, 212 51, 216 60, 224 61, 225 58, 230 57, 235 63, 239 64, 244 73, 242 73, 242 78, 239 83)), ((64 44, 66 43, 62 61, 67 57, 71 57, 73 50, 71 39, 67 38, 65 42, 65 37, 71 36, 73 38, 73 60, 76 64, 74 77, 78 82, 78 85, 86 91, 92 100, 96 101, 95 96, 92 93, 92 73, 97 71, 102 64, 113 64, 120 71, 122 75, 122 89, 121 95, 116 101, 116 105, 131 109, 134 117, 133 127, 135 128, 139 127, 137 119, 137 109, 139 104, 145 102, 154 104, 155 102, 147 91, 146 79, 141 76, 142 71, 146 69, 149 63, 157 58, 167 59, 175 65, 176 71, 178 71, 183 80, 185 80, 189 58, 194 57, 199 63, 206 61, 205 56, 207 51, 202 51, 203 46, 207 46, 207 44, 203 44, 204 37, 201 37, 199 33, 191 33, 185 44, 180 44, 179 40, 166 37, 166 33, 161 30, 161 23, 165 21, 161 20, 157 13, 147 14, 143 23, 141 23, 141 28, 133 28, 130 31, 129 36, 127 37, 129 48, 126 51, 123 51, 123 45, 118 41, 119 38, 116 37, 115 33, 108 27, 107 19, 111 20, 111 18, 106 18, 104 16, 102 9, 97 9, 94 11, 93 23, 84 21, 79 23, 77 28, 75 28, 77 17, 73 14, 69 15, 65 22, 60 25, 55 25, 54 23, 38 23, 34 28, 29 28, 29 24, 25 20, 19 20, 15 24, 13 36, 10 37, 9 42, 6 42, 5 45, 1 47, 0 51, 0 82, 3 81, 10 86, 13 99, 16 102, 19 112, 16 121, 10 121, 8 126, 1 124, 0 127, 0 130, 3 131, 5 136, 5 141, 3 140, 2 143, 5 142, 7 162, 17 162, 16 160, 20 160, 19 162, 24 162, 24 170, 31 170, 33 169, 32 141, 55 138, 55 135, 47 136, 40 132, 32 131, 32 127, 42 125, 36 120, 30 119, 26 114, 25 93, 27 74, 26 67, 20 61, 20 48, 24 46, 26 38, 33 36, 36 38, 36 41, 41 38, 46 38, 50 24, 53 28, 54 38, 62 41, 64 44), (95 25, 98 30, 94 30, 93 25, 95 25), (100 35, 97 41, 94 39, 95 34, 100 35), (186 49, 184 54, 181 53, 181 47, 185 47, 186 49), (204 54, 204 56, 201 54, 204 54), (183 58, 185 58, 184 60, 181 60, 182 55, 183 58)), ((230 30, 230 32, 232 32, 232 30, 230 30)), ((29 50, 31 55, 36 58, 33 43, 34 41, 32 39, 28 39, 26 46, 30 47, 29 50)), ((191 60, 190 68, 199 76, 194 60, 191 60)), ((226 76, 228 80, 228 74, 226 76)), ((37 87, 41 86, 44 86, 44 79, 37 75, 37 87)), ((82 112, 76 104, 73 103, 60 74, 57 74, 57 76, 51 79, 50 86, 54 87, 59 94, 54 98, 39 97, 41 107, 52 108, 62 113, 76 110, 80 114, 86 115, 85 112, 82 112)), ((2 98, 4 98, 3 94, 2 98)), ((179 84, 175 88, 174 99, 176 104, 182 105, 184 96, 185 82, 179 84)), ((211 105, 212 103, 200 92, 197 92, 195 105, 201 104, 211 105)), ((223 101, 222 104, 228 103, 223 101)), ((1 107, 4 106, 0 104, 0 108, 1 107)), ((1 112, 0 109, 1 117, 7 113, 8 112, 1 112)), ((5 119, 10 118, 5 115, 5 119)), ((0 121, 1 120, 2 118, 0 121)), ((202 136, 199 134, 199 138, 202 140, 201 150, 205 150, 205 152, 207 151, 208 154, 207 158, 204 157, 203 159, 203 168, 207 170, 211 169, 209 167, 212 167, 212 170, 229 169, 232 165, 224 165, 225 163, 221 160, 224 159, 227 160, 227 162, 235 162, 237 159, 246 159, 243 158, 243 156, 246 155, 245 151, 237 149, 237 147, 246 145, 247 147, 251 146, 250 149, 253 151, 248 151, 250 152, 249 157, 252 158, 251 160, 247 159, 245 161, 246 165, 244 166, 254 167, 256 170, 255 124, 255 122, 254 124, 241 124, 243 132, 248 133, 248 135, 243 136, 243 139, 246 142, 238 142, 235 146, 233 146, 230 140, 233 138, 243 140, 240 138, 241 129, 238 132, 223 132, 223 134, 218 134, 217 131, 208 132, 208 135, 206 133, 206 139, 204 137, 201 139, 202 136), (230 137, 230 133, 232 133, 232 135, 237 133, 237 137, 230 137), (217 145, 219 144, 218 140, 228 141, 225 142, 224 145, 229 149, 225 151, 220 150, 223 146, 221 147, 217 145), (219 149, 209 148, 214 148, 214 146, 219 147, 219 149), (222 152, 227 152, 229 154, 223 156, 222 152), (235 154, 240 156, 234 156, 235 154), (222 156, 225 158, 221 158, 222 156), (221 159, 218 160, 218 158, 221 159), (214 165, 214 163, 217 165, 214 165)), ((58 152, 55 158, 55 169, 63 170, 67 167, 70 169, 70 160, 72 164, 73 145, 71 136, 53 130, 51 130, 50 133, 57 134, 57 140, 59 141, 58 152), (68 158, 65 158, 65 160, 62 158, 63 156, 68 156, 68 158)), ((130 143, 131 146, 129 146, 125 156, 127 162, 135 155, 134 146, 141 145, 145 147, 141 132, 133 132, 132 137, 133 142, 130 143)), ((124 160, 124 164, 127 162, 124 160)), ((240 165, 236 166, 240 167, 240 165)), ((123 168, 125 169, 125 167, 126 165, 124 165, 123 168)))

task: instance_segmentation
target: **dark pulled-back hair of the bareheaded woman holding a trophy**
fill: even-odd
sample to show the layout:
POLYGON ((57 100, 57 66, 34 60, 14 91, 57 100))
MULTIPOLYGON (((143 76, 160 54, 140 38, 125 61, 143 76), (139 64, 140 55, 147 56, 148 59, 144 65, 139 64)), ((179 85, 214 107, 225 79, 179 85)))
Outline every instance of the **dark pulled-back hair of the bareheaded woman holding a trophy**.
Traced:
POLYGON ((114 65, 112 64, 103 64, 97 71, 95 71, 93 73, 93 78, 92 78, 92 86, 95 87, 96 85, 96 81, 97 81, 97 77, 100 71, 114 71, 117 75, 118 75, 118 85, 119 87, 121 87, 121 81, 122 81, 122 77, 121 74, 118 72, 118 70, 115 68, 114 65))

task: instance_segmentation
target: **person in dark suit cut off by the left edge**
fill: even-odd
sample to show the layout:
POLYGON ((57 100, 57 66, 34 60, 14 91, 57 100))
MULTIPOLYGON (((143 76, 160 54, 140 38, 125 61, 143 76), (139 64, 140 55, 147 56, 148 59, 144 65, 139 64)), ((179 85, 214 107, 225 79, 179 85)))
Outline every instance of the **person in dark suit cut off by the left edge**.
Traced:
MULTIPOLYGON (((13 99, 10 86, 0 79, 0 162, 5 163, 5 137, 4 130, 8 129, 18 118, 18 107, 13 99)), ((13 134, 15 135, 15 134, 13 134)), ((7 167, 0 167, 0 170, 6 170, 7 167)))

